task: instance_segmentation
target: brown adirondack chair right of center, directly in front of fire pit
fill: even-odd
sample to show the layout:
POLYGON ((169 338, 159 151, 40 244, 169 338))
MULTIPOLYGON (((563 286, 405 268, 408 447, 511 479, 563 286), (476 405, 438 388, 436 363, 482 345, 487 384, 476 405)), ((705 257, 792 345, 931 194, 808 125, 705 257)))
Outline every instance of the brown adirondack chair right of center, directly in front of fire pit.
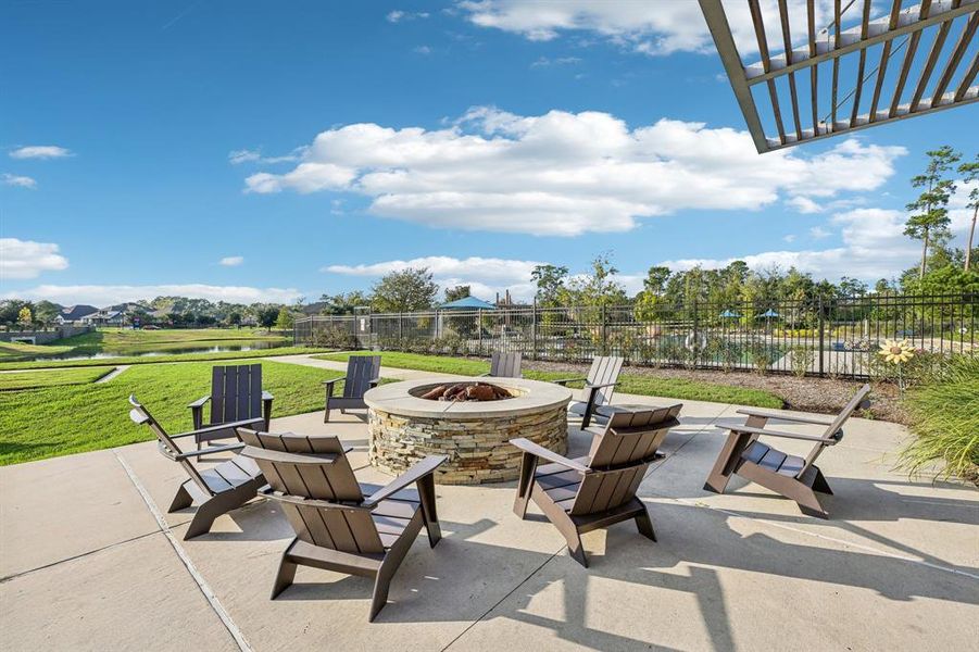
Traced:
POLYGON ((532 500, 564 535, 572 557, 586 567, 583 532, 635 519, 639 532, 655 541, 652 521, 636 490, 666 434, 679 425, 680 408, 617 412, 603 429, 591 428, 595 435, 591 452, 577 460, 528 439, 511 440, 524 451, 514 513, 524 518, 532 500))

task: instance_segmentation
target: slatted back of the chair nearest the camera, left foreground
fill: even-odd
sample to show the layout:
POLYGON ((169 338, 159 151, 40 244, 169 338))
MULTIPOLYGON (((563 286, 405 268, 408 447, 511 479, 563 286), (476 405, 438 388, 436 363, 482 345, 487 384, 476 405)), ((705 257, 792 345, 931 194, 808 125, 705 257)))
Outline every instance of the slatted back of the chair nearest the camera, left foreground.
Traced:
POLYGON ((238 428, 300 540, 341 552, 382 554, 384 544, 336 437, 274 435, 238 428), (318 501, 304 504, 305 501, 318 501), (326 504, 330 503, 330 504, 326 504))

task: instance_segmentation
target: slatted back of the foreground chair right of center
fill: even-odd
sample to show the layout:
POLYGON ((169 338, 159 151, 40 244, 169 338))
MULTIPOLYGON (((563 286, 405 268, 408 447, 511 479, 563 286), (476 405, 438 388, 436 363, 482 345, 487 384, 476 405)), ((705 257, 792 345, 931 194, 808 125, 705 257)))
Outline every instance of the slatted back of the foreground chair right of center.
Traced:
POLYGON ((612 415, 592 446, 591 472, 581 479, 570 514, 606 512, 631 501, 669 428, 679 425, 680 408, 612 415))

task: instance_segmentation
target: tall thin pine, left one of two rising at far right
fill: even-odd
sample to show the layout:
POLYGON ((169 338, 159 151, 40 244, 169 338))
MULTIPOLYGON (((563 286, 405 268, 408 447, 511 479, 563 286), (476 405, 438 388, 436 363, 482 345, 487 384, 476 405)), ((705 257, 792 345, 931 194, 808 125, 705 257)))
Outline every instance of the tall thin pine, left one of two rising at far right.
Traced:
POLYGON ((936 237, 947 236, 949 233, 949 198, 955 191, 955 184, 945 178, 945 174, 958 162, 962 154, 951 147, 943 146, 928 154, 925 174, 911 179, 914 188, 924 188, 918 199, 907 204, 912 215, 907 218, 904 235, 921 240, 921 268, 918 278, 925 277, 925 264, 928 260, 928 246, 936 237))

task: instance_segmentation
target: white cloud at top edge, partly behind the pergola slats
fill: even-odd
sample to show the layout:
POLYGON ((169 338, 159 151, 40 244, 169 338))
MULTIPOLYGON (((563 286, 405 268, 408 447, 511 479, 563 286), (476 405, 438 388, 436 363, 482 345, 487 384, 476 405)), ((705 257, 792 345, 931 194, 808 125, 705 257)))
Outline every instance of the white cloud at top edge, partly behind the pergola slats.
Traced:
MULTIPOLYGON (((808 28, 805 21, 806 0, 789 0, 788 5, 789 15, 796 17, 790 21, 792 37, 799 40, 808 28), (799 20, 799 16, 802 18, 799 20)), ((699 3, 693 0, 463 0, 457 7, 476 25, 519 34, 529 40, 548 41, 563 33, 588 32, 644 54, 713 51, 711 34, 699 3)), ((762 0, 761 8, 769 41, 781 42, 777 0, 762 0)), ((725 11, 742 55, 757 52, 746 3, 743 0, 725 0, 725 11)), ((831 20, 832 2, 817 0, 815 11, 816 24, 826 25, 831 20)))

